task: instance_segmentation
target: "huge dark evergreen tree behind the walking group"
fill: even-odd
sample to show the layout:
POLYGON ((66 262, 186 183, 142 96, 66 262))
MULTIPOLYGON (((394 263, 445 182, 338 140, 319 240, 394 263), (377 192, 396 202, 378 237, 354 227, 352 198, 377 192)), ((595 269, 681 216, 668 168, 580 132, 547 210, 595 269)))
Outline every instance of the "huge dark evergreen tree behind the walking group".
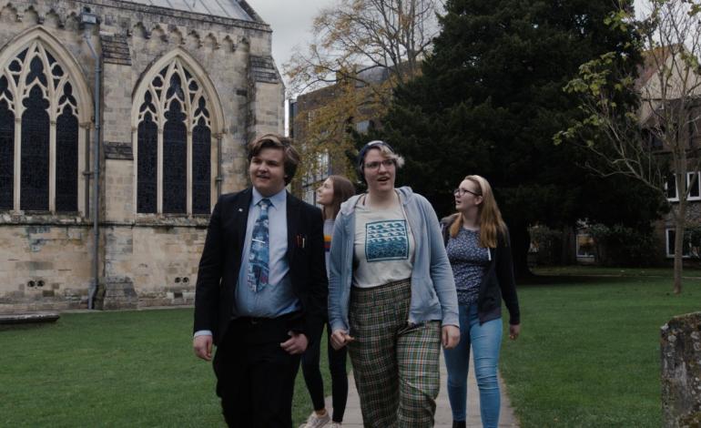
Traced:
POLYGON ((609 2, 449 0, 422 76, 395 91, 385 138, 407 158, 404 183, 452 211, 467 174, 493 185, 512 235, 518 274, 528 273, 528 226, 592 219, 649 227, 659 209, 625 179, 595 177, 587 153, 552 136, 578 114, 563 91, 578 66, 604 52, 635 62, 633 32, 604 25, 609 2), (606 209, 601 209, 604 204, 606 209))

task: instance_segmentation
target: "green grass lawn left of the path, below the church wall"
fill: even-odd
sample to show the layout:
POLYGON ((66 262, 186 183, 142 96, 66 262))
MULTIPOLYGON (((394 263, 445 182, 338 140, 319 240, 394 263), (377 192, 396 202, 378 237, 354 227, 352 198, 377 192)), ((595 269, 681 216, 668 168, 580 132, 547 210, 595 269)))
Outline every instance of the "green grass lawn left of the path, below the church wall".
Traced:
MULTIPOLYGON (((55 324, 4 327, 0 426, 226 426, 191 331, 189 309, 65 313, 55 324)), ((330 391, 325 341, 321 367, 330 391)), ((295 424, 310 412, 300 370, 295 424)))

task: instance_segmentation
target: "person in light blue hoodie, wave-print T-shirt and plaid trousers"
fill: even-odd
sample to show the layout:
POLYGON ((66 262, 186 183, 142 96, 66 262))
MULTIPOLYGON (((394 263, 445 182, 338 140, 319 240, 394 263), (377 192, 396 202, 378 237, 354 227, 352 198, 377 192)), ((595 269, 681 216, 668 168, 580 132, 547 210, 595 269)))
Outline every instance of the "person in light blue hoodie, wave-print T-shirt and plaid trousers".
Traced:
POLYGON ((331 344, 349 346, 366 427, 433 426, 441 344, 457 343, 455 284, 431 204, 394 179, 383 141, 358 155, 368 192, 340 207, 330 253, 331 344))

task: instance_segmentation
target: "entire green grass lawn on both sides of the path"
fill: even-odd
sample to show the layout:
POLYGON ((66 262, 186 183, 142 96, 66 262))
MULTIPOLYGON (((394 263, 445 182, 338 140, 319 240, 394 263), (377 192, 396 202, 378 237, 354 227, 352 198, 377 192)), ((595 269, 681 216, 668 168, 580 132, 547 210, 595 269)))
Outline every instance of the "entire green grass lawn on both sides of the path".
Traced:
MULTIPOLYGON (((523 428, 658 427, 659 328, 701 311, 701 271, 561 268, 519 287, 501 370, 523 428)), ((0 426, 224 426, 192 310, 65 313, 0 330, 0 426)), ((322 368, 327 367, 325 341, 322 368)), ((327 395, 328 370, 322 370, 327 395)), ((311 412, 301 372, 295 425, 311 412)))

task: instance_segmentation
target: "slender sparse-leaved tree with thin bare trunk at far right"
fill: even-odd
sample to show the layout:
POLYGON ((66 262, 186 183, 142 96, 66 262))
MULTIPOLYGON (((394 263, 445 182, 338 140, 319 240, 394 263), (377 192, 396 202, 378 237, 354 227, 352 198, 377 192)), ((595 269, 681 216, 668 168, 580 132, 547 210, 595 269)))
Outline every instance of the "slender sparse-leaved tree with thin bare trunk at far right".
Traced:
POLYGON ((612 31, 637 35, 632 46, 644 52, 642 75, 621 66, 631 58, 615 50, 584 63, 566 87, 581 97, 583 115, 554 139, 584 146, 594 155, 590 168, 602 177, 634 179, 657 199, 676 189, 678 201, 668 208, 675 222, 678 294, 688 198, 701 167, 695 141, 701 136, 701 2, 649 0, 641 15, 638 21, 621 9, 607 24, 612 31), (620 102, 630 95, 635 102, 620 102))

